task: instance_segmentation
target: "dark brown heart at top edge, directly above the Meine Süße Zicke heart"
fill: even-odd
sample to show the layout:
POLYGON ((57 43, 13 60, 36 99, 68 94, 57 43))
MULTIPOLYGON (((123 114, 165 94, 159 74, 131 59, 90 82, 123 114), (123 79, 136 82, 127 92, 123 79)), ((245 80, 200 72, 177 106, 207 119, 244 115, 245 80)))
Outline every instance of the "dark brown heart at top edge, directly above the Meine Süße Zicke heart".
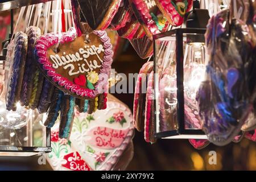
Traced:
POLYGON ((76 0, 81 7, 81 22, 93 30, 105 30, 117 13, 121 0, 76 0))

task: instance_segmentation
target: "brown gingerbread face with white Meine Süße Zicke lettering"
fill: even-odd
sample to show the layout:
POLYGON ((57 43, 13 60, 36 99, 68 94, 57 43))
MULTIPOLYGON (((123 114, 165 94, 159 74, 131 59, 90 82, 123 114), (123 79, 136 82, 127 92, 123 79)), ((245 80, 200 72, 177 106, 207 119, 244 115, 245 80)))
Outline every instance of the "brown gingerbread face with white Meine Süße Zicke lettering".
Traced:
MULTIPOLYGON (((80 36, 72 42, 60 45, 59 52, 55 53, 55 46, 47 50, 47 58, 52 63, 53 68, 61 76, 77 84, 75 79, 82 75, 86 81, 79 80, 81 88, 87 88, 86 82, 88 72, 95 71, 100 74, 101 64, 104 57, 104 49, 100 38, 95 34, 89 35, 90 42, 85 42, 85 36, 80 36), (100 52, 100 53, 98 53, 100 52)), ((95 85, 95 84, 93 84, 95 85)))

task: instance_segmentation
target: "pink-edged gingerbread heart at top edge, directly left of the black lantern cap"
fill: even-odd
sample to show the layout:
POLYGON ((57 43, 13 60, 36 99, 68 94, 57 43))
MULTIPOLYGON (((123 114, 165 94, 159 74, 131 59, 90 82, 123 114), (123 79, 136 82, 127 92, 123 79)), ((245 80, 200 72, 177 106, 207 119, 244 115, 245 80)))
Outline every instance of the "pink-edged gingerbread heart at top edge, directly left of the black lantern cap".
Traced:
POLYGON ((155 0, 159 10, 173 26, 183 23, 184 15, 191 10, 192 0, 155 0))

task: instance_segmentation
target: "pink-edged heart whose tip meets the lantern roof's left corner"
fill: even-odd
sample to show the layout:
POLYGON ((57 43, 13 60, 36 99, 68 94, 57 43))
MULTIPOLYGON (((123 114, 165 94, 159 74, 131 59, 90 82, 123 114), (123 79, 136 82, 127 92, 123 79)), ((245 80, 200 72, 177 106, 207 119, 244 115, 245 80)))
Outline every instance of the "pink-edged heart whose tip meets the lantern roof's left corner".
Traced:
POLYGON ((166 30, 167 20, 154 0, 130 0, 130 3, 136 18, 150 39, 152 39, 152 35, 166 30))

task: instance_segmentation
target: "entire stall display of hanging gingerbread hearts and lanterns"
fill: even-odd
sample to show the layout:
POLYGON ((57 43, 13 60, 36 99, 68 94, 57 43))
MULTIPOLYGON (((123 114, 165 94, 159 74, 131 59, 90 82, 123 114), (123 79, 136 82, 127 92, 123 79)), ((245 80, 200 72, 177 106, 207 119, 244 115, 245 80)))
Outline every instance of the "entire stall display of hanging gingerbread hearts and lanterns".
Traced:
MULTIPOLYGON (((94 171, 118 169, 123 153, 131 156, 134 127, 148 143, 187 139, 198 150, 255 141, 253 0, 30 1, 0 3, 0 10, 8 3, 18 18, 14 26, 11 10, 0 126, 26 127, 26 140, 35 141, 35 120, 37 140, 44 138, 39 151, 38 143, 20 141, 16 151, 52 150, 54 170, 94 171), (148 59, 135 82, 133 113, 109 94, 121 38, 148 59)), ((12 150, 2 145, 0 155, 12 150)))

